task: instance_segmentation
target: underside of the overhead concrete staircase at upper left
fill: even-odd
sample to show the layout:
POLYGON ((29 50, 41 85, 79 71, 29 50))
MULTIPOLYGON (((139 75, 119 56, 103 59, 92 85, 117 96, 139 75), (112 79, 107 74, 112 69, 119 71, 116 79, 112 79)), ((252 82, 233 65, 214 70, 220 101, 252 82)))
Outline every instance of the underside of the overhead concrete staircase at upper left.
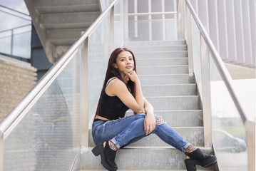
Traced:
POLYGON ((24 0, 48 61, 55 63, 101 14, 98 0, 24 0))

